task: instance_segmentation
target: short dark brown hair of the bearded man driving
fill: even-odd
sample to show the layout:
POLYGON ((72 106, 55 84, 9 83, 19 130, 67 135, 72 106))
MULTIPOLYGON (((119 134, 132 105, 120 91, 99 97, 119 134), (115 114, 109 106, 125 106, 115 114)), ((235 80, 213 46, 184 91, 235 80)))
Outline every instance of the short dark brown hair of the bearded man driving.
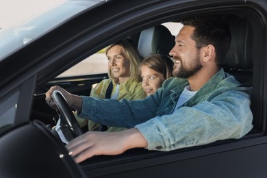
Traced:
POLYGON ((196 42, 196 48, 212 44, 216 63, 222 64, 231 42, 231 32, 223 16, 195 16, 185 18, 181 23, 195 28, 191 38, 196 42))

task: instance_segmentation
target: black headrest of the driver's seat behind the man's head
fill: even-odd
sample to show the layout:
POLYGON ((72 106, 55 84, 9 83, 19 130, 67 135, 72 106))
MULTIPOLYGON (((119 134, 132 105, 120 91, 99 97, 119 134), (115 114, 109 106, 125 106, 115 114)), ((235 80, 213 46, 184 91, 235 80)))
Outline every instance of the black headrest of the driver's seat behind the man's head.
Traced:
POLYGON ((252 69, 252 34, 249 23, 238 16, 227 20, 231 31, 231 44, 223 66, 236 69, 252 69))

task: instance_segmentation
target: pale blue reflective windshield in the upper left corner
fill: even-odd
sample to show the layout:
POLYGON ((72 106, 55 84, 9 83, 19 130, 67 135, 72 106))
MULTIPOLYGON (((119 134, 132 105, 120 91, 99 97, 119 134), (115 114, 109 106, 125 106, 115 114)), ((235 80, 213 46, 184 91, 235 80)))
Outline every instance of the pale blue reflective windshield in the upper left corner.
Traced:
POLYGON ((0 29, 0 61, 12 51, 23 47, 38 36, 46 34, 68 18, 101 2, 103 0, 58 1, 21 23, 0 29))

